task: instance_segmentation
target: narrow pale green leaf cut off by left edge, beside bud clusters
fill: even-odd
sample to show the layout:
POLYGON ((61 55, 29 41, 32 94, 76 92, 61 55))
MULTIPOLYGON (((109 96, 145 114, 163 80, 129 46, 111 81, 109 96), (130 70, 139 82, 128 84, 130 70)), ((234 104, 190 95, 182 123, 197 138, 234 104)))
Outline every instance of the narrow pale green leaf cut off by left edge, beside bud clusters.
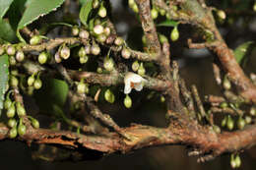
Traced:
POLYGON ((6 86, 8 84, 8 75, 9 75, 9 63, 8 55, 4 54, 0 56, 0 116, 3 109, 3 102, 5 100, 6 86))

